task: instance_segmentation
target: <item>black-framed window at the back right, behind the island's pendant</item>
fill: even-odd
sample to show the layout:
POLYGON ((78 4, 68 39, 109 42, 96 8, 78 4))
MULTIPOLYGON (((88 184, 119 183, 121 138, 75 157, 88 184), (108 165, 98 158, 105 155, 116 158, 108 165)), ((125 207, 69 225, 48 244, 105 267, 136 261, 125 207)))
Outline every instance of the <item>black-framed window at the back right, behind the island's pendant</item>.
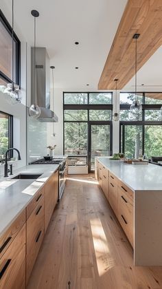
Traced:
POLYGON ((139 158, 140 155, 162 155, 162 121, 160 97, 162 93, 138 93, 142 104, 141 114, 133 118, 130 105, 135 100, 131 92, 120 93, 120 151, 126 158, 139 158), (159 98, 157 98, 159 97, 159 98))

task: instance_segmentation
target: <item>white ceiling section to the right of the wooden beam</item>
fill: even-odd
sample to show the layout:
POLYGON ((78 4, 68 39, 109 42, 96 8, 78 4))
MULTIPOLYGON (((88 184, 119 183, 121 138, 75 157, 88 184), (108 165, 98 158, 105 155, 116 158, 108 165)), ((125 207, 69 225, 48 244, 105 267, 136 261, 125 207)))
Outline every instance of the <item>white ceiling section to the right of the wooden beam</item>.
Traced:
MULTIPOLYGON (((162 47, 139 69, 137 85, 139 92, 162 92, 162 47), (144 84, 144 85, 142 85, 144 84)), ((123 90, 135 90, 135 77, 133 77, 123 90)))

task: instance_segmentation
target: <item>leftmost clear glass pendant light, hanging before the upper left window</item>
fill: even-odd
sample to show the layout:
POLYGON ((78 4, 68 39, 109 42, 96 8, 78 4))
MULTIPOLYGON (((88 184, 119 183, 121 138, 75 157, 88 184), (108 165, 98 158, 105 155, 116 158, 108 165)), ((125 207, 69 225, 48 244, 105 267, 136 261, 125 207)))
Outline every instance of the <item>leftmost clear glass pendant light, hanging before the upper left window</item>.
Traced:
POLYGON ((8 96, 8 102, 12 105, 21 103, 19 85, 14 83, 14 0, 12 0, 12 83, 8 83, 3 93, 8 96))

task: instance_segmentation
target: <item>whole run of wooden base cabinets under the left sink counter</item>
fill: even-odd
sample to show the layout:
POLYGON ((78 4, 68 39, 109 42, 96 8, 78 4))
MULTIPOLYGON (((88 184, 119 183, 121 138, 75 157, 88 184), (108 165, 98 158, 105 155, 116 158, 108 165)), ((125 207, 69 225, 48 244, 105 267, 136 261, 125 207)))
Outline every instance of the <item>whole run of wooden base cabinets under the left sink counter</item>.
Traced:
POLYGON ((58 201, 58 171, 0 237, 0 289, 25 289, 58 201))

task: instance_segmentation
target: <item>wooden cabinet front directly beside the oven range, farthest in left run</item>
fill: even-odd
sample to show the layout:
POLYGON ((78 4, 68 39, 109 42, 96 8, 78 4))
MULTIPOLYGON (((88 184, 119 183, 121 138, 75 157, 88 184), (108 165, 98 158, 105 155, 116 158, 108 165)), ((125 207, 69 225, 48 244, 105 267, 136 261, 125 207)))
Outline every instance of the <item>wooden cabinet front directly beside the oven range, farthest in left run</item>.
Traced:
POLYGON ((58 201, 58 171, 45 184, 45 231, 58 201))

